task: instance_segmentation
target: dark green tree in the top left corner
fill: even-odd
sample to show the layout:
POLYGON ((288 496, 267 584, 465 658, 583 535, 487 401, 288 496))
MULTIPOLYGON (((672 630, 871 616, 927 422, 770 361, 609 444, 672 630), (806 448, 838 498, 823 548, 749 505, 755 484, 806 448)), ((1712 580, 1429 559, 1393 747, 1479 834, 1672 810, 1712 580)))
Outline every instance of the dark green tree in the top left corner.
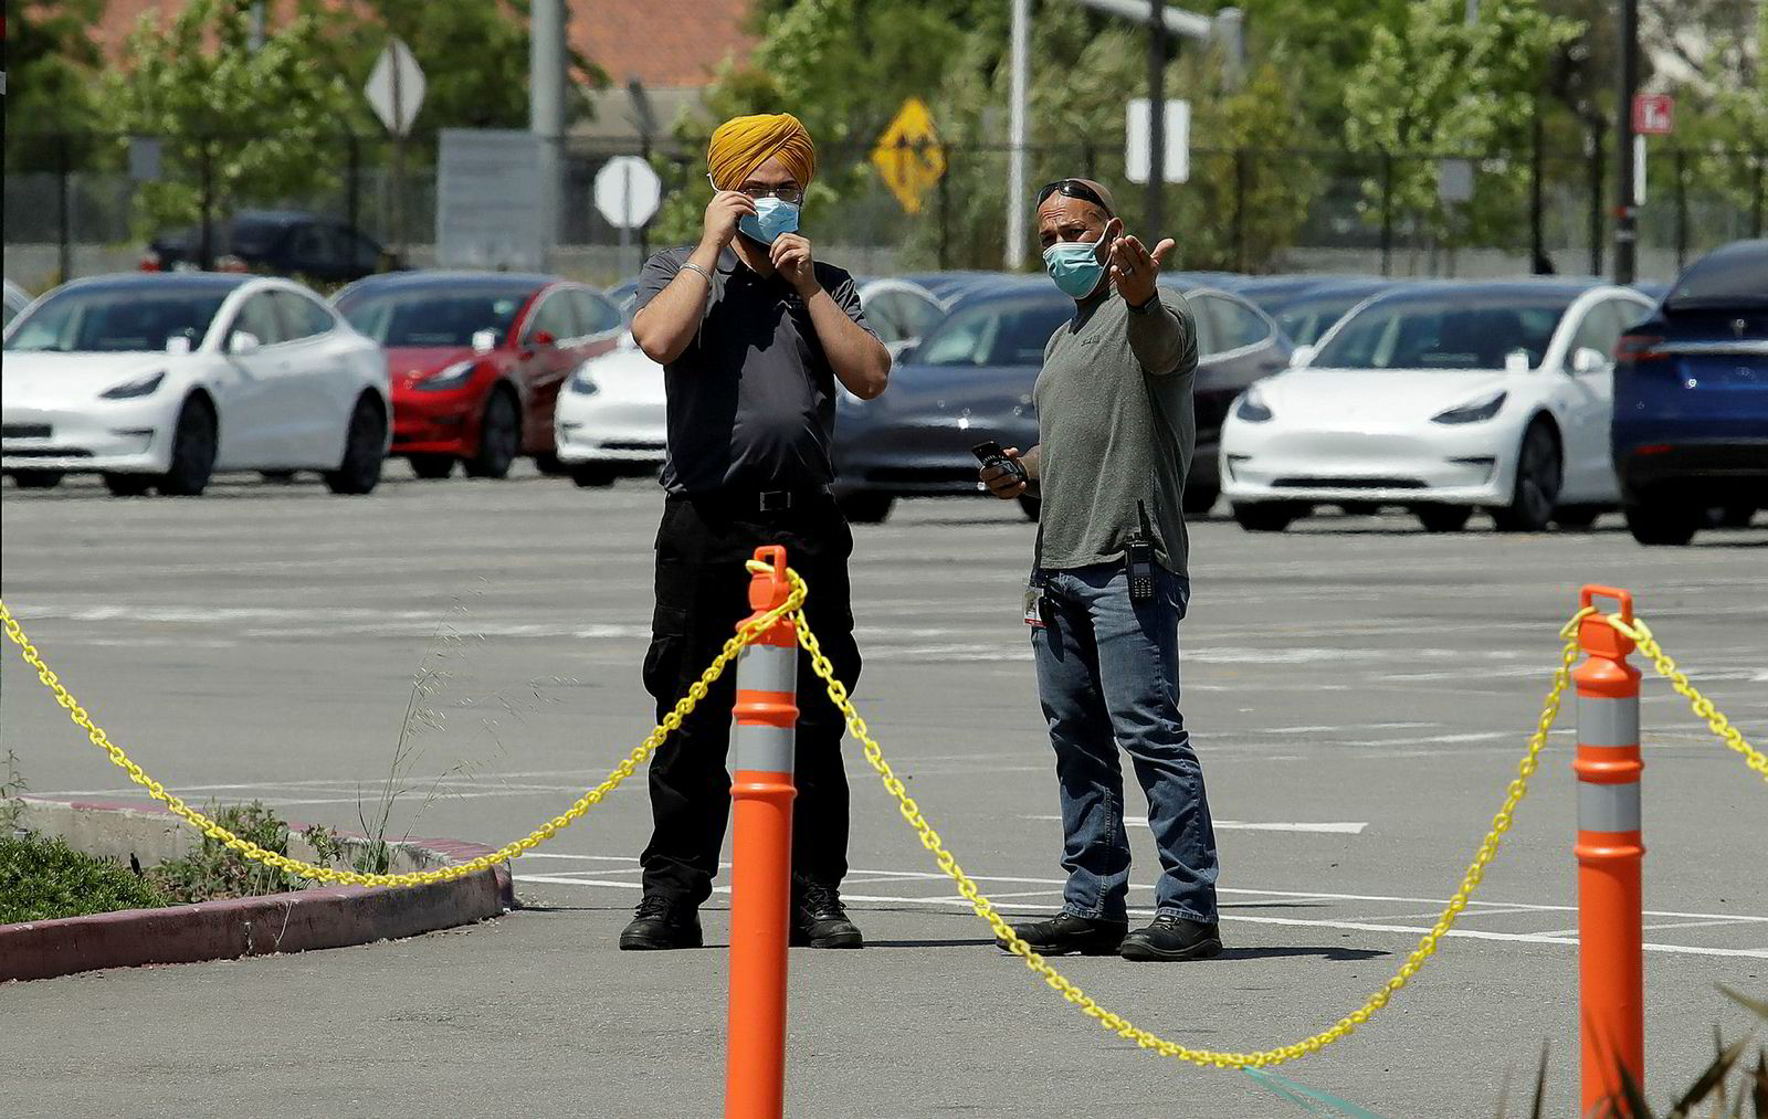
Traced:
POLYGON ((92 27, 103 14, 104 0, 5 0, 9 171, 51 171, 64 152, 71 164, 83 163, 97 127, 92 87, 101 58, 92 27))

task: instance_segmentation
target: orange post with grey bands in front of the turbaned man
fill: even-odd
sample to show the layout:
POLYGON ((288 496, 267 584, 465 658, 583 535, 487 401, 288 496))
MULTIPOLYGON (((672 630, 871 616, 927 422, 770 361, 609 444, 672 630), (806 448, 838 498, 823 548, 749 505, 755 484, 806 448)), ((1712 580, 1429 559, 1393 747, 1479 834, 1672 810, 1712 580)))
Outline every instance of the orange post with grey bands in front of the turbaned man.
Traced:
MULTIPOLYGON (((750 580, 744 624, 792 592, 785 548, 755 550, 769 571, 750 580)), ((735 856, 730 870, 730 1025, 725 1117, 785 1114, 785 974, 792 903, 792 750, 797 728, 797 631, 780 619, 737 659, 735 856)))

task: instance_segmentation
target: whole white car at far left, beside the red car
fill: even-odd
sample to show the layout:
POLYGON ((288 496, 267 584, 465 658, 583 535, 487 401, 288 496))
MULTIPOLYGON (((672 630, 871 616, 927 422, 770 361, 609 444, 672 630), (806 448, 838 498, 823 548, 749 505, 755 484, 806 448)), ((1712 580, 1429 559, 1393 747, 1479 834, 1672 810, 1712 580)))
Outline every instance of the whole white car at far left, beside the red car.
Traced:
POLYGON ((5 331, 0 468, 19 486, 103 474, 196 495, 226 470, 320 470, 368 493, 387 451, 387 359, 286 279, 127 274, 69 283, 5 331))

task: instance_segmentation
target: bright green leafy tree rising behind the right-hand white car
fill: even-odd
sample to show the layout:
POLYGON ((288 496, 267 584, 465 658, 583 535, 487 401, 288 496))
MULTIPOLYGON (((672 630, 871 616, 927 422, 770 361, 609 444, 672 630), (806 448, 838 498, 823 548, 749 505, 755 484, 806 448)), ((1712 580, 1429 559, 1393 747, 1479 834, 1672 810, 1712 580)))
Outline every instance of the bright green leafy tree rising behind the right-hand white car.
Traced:
POLYGON ((1432 242, 1508 240, 1528 159, 1506 154, 1528 150, 1552 60, 1581 27, 1535 0, 1485 0, 1473 23, 1464 12, 1462 0, 1413 0, 1398 32, 1376 28, 1345 88, 1345 138, 1400 156, 1391 182, 1365 184, 1370 212, 1386 186, 1395 210, 1432 242), (1471 205, 1441 202, 1441 156, 1478 163, 1471 205))

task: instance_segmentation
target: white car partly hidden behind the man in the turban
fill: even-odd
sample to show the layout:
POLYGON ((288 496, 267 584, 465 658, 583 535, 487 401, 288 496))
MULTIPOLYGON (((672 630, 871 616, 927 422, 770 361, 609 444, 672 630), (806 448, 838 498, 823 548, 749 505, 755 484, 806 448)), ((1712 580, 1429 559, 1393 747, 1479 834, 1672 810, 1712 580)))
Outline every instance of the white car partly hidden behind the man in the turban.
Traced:
MULTIPOLYGON (((907 279, 859 281, 859 302, 866 324, 893 355, 918 343, 946 313, 946 302, 907 279)), ((631 304, 621 306, 631 313, 631 304)), ((580 486, 656 474, 667 456, 665 403, 663 368, 645 357, 628 331, 615 350, 578 366, 559 394, 553 414, 559 461, 580 486)))

